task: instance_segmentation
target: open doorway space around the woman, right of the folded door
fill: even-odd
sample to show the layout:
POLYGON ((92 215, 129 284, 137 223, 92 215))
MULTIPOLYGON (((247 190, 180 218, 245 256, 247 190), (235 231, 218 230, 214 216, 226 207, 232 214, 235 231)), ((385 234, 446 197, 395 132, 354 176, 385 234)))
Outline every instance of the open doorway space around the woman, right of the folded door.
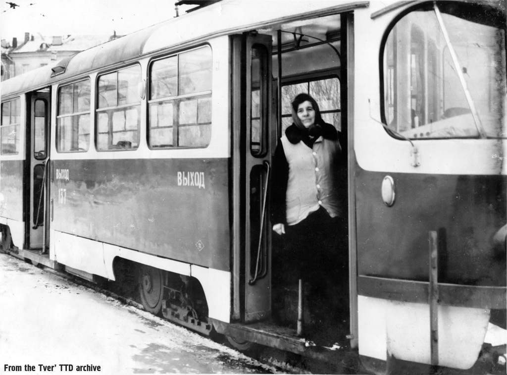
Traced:
MULTIPOLYGON (((347 336, 350 333, 350 311, 345 84, 347 69, 346 61, 342 58, 346 57, 346 27, 342 29, 342 21, 339 14, 300 20, 282 24, 280 29, 273 33, 273 77, 278 87, 278 142, 286 129, 294 123, 291 102, 298 94, 309 94, 315 99, 322 120, 334 126, 339 134, 341 152, 333 168, 333 189, 341 212, 338 218, 327 221, 332 223, 328 224, 332 227, 321 228, 321 233, 326 236, 325 241, 328 243, 321 243, 320 246, 324 245, 325 249, 315 249, 305 244, 307 248, 303 253, 300 251, 300 254, 296 254, 291 251, 297 244, 288 238, 290 231, 286 230, 286 233, 281 235, 273 233, 272 311, 275 322, 297 329, 298 305, 302 302, 302 336, 315 340, 317 344, 331 346, 338 343, 345 347, 348 345, 347 336), (293 259, 294 257, 297 259, 293 259), (298 268, 299 276, 296 275, 298 268)), ((318 147, 314 146, 313 151, 317 149, 318 147)), ((320 209, 318 212, 320 211, 325 215, 329 210, 320 209)), ((316 216, 317 214, 310 214, 304 220, 317 220, 316 216)), ((296 224, 295 227, 305 230, 305 226, 301 224, 296 224)), ((313 229, 320 232, 319 228, 313 229)), ((301 238, 298 241, 301 241, 301 238)))

